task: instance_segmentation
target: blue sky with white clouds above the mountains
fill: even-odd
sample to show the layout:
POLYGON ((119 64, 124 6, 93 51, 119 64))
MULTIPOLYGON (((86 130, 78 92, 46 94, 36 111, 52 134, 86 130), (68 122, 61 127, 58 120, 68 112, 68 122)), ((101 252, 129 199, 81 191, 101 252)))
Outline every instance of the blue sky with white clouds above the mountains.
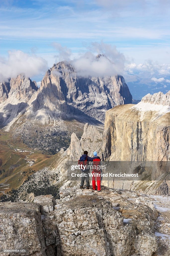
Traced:
POLYGON ((80 76, 124 76, 134 99, 170 90, 170 1, 0 1, 0 80, 73 62, 80 76), (107 58, 96 61, 97 54, 107 58))

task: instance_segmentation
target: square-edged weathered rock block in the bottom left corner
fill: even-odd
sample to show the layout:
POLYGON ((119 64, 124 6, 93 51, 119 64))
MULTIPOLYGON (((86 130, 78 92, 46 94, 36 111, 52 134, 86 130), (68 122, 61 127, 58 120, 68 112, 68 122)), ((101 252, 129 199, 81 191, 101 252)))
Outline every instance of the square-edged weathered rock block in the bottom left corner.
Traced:
POLYGON ((40 205, 25 203, 0 203, 0 248, 1 255, 45 254, 45 239, 40 205), (4 250, 26 250, 4 252, 4 250))

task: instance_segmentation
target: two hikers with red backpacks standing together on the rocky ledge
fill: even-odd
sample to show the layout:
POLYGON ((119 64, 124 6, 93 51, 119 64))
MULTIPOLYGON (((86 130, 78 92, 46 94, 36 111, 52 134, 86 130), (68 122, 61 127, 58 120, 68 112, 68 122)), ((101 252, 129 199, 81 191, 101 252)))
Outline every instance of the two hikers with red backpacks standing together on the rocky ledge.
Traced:
POLYGON ((93 152, 94 157, 88 156, 88 152, 84 151, 84 154, 80 157, 79 164, 80 166, 83 165, 85 168, 81 169, 82 177, 81 177, 81 184, 80 188, 83 188, 84 181, 86 179, 86 188, 90 188, 89 183, 89 177, 90 177, 90 168, 89 168, 89 162, 93 161, 93 170, 92 170, 92 186, 93 190, 96 190, 96 179, 97 179, 97 191, 101 191, 100 183, 101 183, 101 171, 97 171, 96 168, 94 168, 96 165, 100 164, 100 157, 97 156, 97 152, 93 152))

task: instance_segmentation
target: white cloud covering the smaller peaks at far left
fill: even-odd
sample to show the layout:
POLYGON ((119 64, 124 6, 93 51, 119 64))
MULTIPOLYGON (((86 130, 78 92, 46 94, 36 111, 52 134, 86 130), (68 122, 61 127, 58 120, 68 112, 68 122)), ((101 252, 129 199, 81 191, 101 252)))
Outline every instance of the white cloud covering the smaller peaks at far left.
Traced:
POLYGON ((46 60, 35 54, 15 50, 9 51, 6 59, 0 57, 0 81, 15 78, 20 73, 27 77, 35 76, 46 69, 46 60))

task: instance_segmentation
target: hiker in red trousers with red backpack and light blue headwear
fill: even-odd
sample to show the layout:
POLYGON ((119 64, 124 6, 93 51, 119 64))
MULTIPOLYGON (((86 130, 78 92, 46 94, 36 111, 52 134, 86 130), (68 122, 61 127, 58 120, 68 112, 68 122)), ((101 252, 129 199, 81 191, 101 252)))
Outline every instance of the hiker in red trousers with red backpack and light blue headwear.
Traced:
MULTIPOLYGON (((97 152, 93 152, 94 156, 97 156, 97 152)), ((100 158, 93 159, 93 171, 92 171, 92 186, 93 190, 96 190, 96 180, 97 180, 97 191, 100 192, 100 183, 101 183, 101 169, 100 169, 100 158)))

